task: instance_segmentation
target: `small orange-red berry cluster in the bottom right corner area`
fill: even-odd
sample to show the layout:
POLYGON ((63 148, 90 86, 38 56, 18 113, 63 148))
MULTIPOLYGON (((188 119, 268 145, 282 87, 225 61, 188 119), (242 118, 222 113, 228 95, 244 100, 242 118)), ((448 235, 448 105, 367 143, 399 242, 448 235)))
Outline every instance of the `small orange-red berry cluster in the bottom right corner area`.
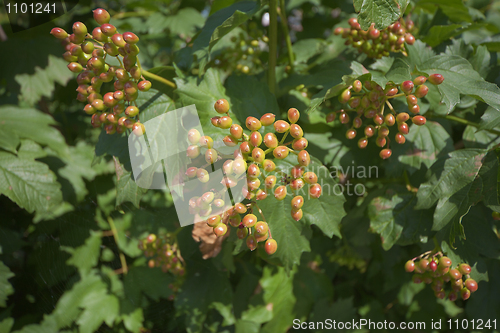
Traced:
POLYGON ((408 260, 405 264, 405 270, 408 273, 415 272, 413 275, 414 283, 426 283, 432 286, 432 290, 437 298, 446 297, 446 283, 450 282, 448 299, 455 301, 458 294, 463 300, 467 300, 470 294, 477 290, 477 282, 470 278, 471 267, 468 264, 461 263, 453 268, 451 259, 438 252, 432 256, 429 253, 408 260))

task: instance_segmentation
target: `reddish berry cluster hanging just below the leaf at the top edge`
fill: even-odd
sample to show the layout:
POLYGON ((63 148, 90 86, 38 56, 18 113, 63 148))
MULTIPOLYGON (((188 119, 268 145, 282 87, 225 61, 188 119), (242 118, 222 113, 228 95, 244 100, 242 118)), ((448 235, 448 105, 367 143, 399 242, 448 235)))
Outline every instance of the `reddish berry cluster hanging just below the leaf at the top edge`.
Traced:
POLYGON ((351 28, 336 28, 335 35, 342 35, 346 45, 352 45, 359 52, 366 53, 370 58, 380 59, 389 56, 390 52, 404 52, 405 42, 415 43, 415 37, 410 33, 413 30, 413 21, 397 21, 384 30, 375 29, 374 24, 368 31, 361 30, 358 20, 349 19, 351 28))

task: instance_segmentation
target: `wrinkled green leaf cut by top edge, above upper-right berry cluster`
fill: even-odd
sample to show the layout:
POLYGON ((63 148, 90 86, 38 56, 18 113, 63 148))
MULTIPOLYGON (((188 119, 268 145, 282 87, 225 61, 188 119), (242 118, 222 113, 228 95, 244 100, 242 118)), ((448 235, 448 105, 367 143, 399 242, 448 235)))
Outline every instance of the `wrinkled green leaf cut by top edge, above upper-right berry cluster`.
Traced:
MULTIPOLYGON (((406 3, 406 1, 401 1, 406 3)), ((393 24, 404 13, 405 8, 393 0, 355 0, 354 8, 359 11, 358 22, 362 30, 368 30, 372 23, 382 30, 393 24), (401 11, 403 9, 403 11, 401 11)))

